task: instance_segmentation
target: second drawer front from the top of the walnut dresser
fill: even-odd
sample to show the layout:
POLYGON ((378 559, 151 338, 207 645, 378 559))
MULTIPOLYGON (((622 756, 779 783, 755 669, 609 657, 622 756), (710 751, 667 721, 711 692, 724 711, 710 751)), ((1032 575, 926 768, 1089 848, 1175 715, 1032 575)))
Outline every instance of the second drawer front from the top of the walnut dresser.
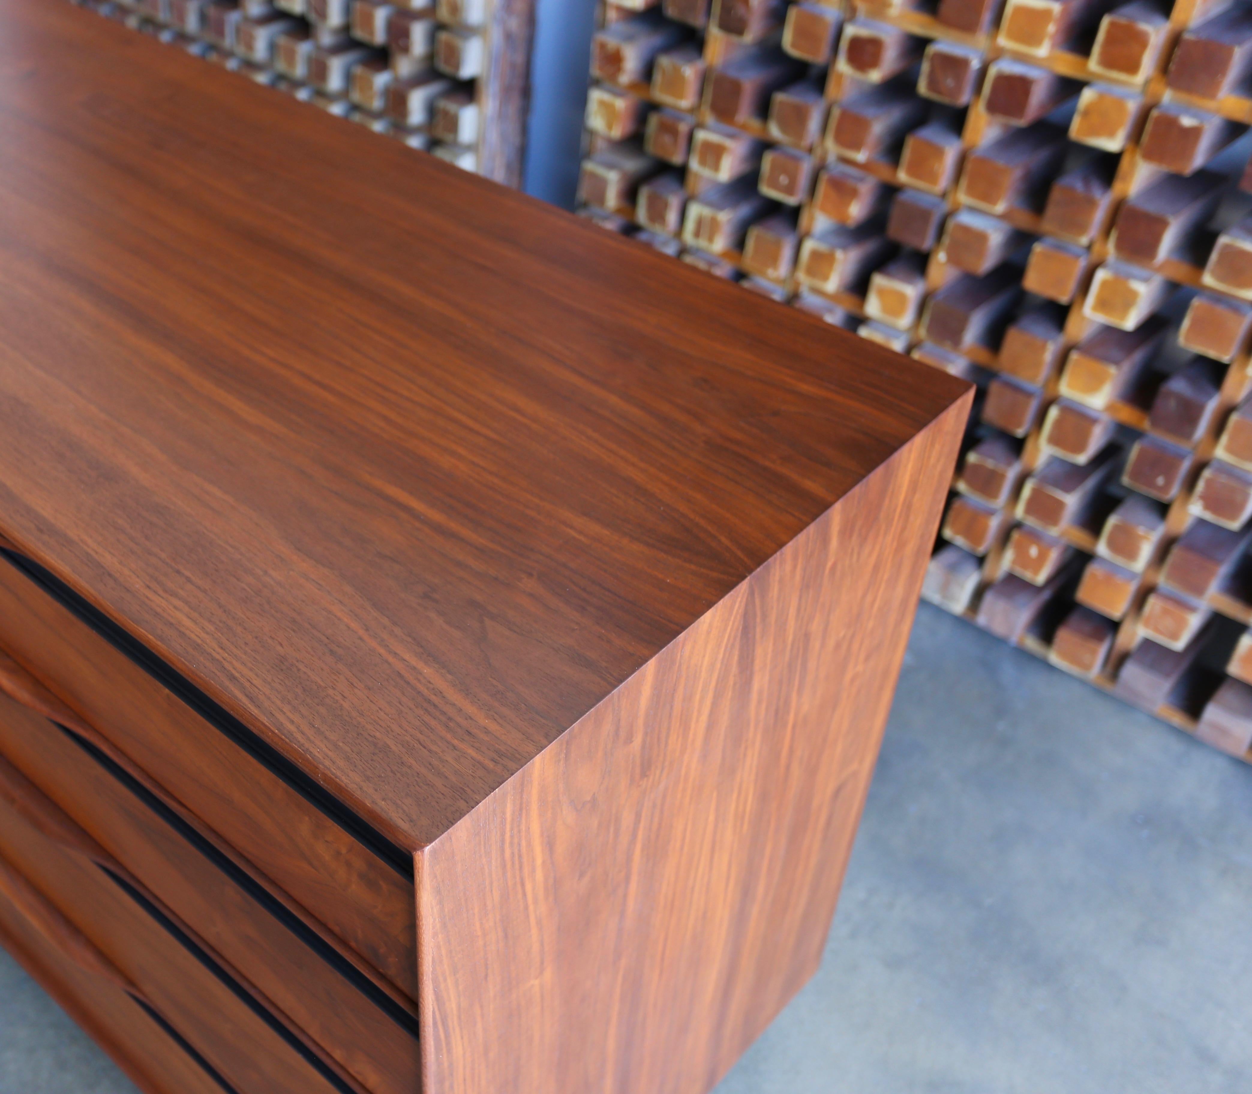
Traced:
POLYGON ((93 741, 0 695, 0 755, 362 1085, 418 1089, 416 1015, 93 741))

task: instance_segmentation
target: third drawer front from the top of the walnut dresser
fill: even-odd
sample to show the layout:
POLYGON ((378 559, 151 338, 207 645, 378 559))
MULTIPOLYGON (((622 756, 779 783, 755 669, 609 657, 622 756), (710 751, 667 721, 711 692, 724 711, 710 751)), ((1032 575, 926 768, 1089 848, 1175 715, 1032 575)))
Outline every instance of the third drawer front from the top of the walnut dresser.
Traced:
POLYGON ((61 920, 64 930, 49 934, 85 939, 83 964, 103 955, 120 984, 239 1094, 361 1094, 363 1088, 322 1060, 103 847, 0 761, 0 886, 10 899, 15 881, 19 890, 29 886, 25 904, 36 910, 29 919, 61 920), (40 901, 48 909, 43 916, 40 901))

